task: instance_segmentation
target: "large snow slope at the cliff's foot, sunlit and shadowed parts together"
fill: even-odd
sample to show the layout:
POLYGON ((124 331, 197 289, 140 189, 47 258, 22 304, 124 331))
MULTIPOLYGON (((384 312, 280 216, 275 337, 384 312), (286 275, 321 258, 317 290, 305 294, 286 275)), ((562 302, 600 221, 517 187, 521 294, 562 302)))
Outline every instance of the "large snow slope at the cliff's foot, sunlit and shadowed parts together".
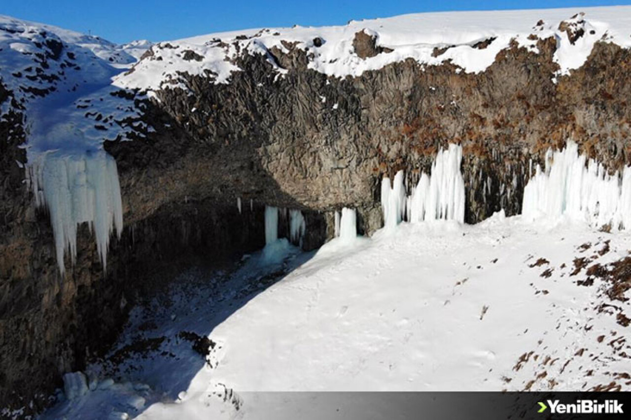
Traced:
MULTIPOLYGON (((610 342, 625 336, 616 314, 631 304, 607 306, 610 284, 598 277, 577 282, 629 248, 625 231, 572 221, 548 228, 498 213, 474 226, 401 223, 275 265, 257 253, 228 275, 178 279, 170 306, 161 296, 134 309, 114 352, 139 335, 167 337, 162 344, 123 361, 109 389, 43 418, 304 418, 312 404, 261 391, 562 391, 613 381, 628 390, 615 378, 628 368, 626 347, 610 342), (589 263, 572 275, 578 257, 589 263), (278 264, 288 274, 257 288, 278 264), (149 320, 153 329, 138 329, 149 320), (174 338, 180 330, 208 335, 210 354, 196 356, 174 338), (136 395, 141 409, 131 404, 136 395)), ((99 383, 111 375, 103 368, 88 368, 99 383)))

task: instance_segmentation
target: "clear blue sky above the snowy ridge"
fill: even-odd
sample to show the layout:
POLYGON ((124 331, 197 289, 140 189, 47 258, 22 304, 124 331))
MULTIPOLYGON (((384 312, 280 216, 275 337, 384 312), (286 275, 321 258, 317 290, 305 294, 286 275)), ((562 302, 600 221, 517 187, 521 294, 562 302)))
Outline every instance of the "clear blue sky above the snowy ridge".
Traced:
POLYGON ((355 19, 449 10, 610 6, 630 0, 1 0, 0 14, 91 32, 114 42, 170 40, 263 26, 343 25, 355 19))

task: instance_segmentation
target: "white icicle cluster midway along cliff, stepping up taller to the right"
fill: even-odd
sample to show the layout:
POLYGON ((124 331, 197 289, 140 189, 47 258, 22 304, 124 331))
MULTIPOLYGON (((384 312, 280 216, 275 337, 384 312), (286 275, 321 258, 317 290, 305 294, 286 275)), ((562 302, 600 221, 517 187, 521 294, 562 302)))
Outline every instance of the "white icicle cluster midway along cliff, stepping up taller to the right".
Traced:
POLYGON ((440 150, 432 163, 432 175, 423 173, 411 195, 406 195, 404 173, 399 171, 392 186, 389 178, 381 184, 384 226, 392 228, 404 218, 416 223, 428 220, 464 222, 464 181, 460 172, 463 149, 450 144, 440 150))

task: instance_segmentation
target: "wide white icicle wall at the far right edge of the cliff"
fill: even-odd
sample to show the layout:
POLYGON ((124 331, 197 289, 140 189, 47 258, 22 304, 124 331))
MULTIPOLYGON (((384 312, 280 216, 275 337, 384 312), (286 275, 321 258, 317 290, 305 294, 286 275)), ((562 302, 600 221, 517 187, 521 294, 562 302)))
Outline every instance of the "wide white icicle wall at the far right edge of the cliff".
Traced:
POLYGON ((579 155, 573 141, 561 151, 548 149, 545 171, 537 166, 524 188, 522 214, 530 221, 567 216, 593 226, 631 227, 631 168, 625 167, 622 177, 610 175, 579 155))

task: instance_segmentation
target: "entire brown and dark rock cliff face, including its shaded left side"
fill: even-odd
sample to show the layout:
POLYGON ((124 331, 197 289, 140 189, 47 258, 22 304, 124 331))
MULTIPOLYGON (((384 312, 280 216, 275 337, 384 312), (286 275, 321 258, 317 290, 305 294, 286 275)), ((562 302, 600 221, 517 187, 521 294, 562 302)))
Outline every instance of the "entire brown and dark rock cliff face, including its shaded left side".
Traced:
MULTIPOLYGON (((367 33, 356 42, 360 57, 386 54, 367 33)), ((480 74, 408 60, 341 79, 307 69, 304 50, 284 46, 237 57, 244 71, 228 85, 187 76, 192 95, 164 90, 147 103, 155 133, 105 144, 126 223, 107 273, 83 230, 78 261, 60 278, 47 216, 33 209, 15 163, 25 160, 24 134, 9 129, 21 116, 0 122, 9 139, 0 141, 0 405, 35 395, 45 404, 62 372, 114 339, 135 294, 151 287, 148 273, 261 248, 264 204, 302 209, 312 249, 333 235, 332 212, 343 206, 357 208, 361 233, 379 228, 382 177, 405 170, 415 182, 449 143, 463 146, 468 223, 519 213, 531 160, 567 139, 610 170, 631 163, 631 54, 616 45, 597 43, 557 83, 552 38, 540 40, 540 54, 512 45, 480 74), (270 58, 288 72, 274 73, 270 58)), ((1 100, 11 100, 2 88, 1 100)))

